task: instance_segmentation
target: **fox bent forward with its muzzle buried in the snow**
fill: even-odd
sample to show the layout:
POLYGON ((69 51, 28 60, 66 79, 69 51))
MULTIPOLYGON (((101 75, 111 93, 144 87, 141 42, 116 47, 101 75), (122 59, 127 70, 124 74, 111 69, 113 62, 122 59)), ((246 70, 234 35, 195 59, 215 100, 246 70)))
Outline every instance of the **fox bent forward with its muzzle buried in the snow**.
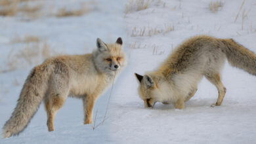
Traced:
POLYGON ((202 35, 182 43, 158 70, 144 76, 135 73, 140 83, 140 98, 145 107, 154 107, 160 101, 184 109, 184 102, 194 96, 198 82, 205 76, 219 92, 213 105, 221 105, 226 93, 220 75, 225 58, 230 65, 256 75, 256 55, 253 52, 232 39, 202 35))

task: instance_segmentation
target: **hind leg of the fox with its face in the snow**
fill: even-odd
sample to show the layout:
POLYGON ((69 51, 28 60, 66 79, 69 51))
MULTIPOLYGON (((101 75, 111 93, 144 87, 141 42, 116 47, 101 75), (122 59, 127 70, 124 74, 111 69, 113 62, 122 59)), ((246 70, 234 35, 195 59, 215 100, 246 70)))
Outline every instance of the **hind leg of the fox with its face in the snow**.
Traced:
POLYGON ((205 75, 205 77, 216 86, 219 93, 216 103, 213 103, 212 106, 221 105, 221 103, 223 103, 223 98, 226 94, 226 88, 224 87, 223 82, 221 82, 221 76, 219 75, 219 73, 217 73, 214 75, 205 75))

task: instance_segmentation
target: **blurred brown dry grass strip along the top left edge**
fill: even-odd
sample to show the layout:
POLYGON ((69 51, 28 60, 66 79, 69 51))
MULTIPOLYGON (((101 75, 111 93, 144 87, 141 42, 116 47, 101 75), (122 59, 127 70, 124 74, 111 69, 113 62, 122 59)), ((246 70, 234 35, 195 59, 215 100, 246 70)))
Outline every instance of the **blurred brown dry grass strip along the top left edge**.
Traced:
POLYGON ((22 18, 29 20, 34 20, 43 15, 60 18, 66 16, 82 16, 92 10, 90 7, 96 5, 94 1, 89 1, 81 3, 79 9, 62 7, 55 12, 53 5, 44 5, 44 3, 35 0, 0 0, 0 16, 22 16, 22 18), (43 8, 47 9, 45 13, 43 13, 43 8))

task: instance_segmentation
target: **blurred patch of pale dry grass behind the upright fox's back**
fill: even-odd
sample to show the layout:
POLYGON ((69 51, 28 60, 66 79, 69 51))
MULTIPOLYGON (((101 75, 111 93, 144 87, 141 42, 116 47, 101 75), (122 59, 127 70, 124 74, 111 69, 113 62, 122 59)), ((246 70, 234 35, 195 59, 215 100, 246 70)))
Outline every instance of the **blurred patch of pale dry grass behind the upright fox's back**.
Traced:
POLYGON ((17 37, 12 41, 12 44, 15 43, 20 43, 19 45, 24 47, 19 50, 12 48, 5 62, 7 63, 5 69, 1 69, 0 73, 7 73, 28 65, 37 65, 56 54, 46 41, 41 42, 41 39, 36 36, 26 36, 22 39, 17 37))

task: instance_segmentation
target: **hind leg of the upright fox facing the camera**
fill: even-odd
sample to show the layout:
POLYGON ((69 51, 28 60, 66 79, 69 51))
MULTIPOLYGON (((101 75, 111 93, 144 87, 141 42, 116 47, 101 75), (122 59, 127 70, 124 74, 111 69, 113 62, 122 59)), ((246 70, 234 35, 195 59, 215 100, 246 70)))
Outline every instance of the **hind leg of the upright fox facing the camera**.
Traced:
POLYGON ((51 95, 49 99, 45 100, 45 108, 47 111, 47 126, 48 131, 54 130, 55 115, 64 105, 66 98, 61 97, 59 94, 51 95))

